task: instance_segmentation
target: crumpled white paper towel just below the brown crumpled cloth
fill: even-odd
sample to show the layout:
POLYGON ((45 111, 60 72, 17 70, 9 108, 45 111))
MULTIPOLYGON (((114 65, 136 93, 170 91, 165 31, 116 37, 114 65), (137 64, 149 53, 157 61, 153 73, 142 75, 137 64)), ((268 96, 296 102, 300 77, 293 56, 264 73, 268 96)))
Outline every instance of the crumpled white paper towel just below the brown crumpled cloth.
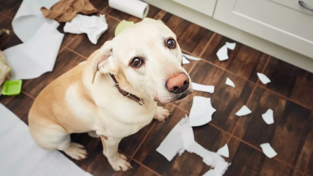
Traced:
POLYGON ((97 44, 98 39, 107 29, 108 24, 104 14, 100 14, 99 17, 77 14, 72 21, 66 22, 63 28, 64 32, 87 34, 88 39, 93 44, 97 44))

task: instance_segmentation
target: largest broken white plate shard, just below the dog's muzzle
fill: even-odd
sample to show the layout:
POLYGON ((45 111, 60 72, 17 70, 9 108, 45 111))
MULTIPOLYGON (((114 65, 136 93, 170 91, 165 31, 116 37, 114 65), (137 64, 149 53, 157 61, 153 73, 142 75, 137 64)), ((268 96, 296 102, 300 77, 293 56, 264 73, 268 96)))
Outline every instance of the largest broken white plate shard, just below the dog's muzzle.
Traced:
POLYGON ((212 107, 211 98, 194 96, 189 113, 189 123, 192 127, 202 126, 211 122, 212 115, 216 111, 212 107))

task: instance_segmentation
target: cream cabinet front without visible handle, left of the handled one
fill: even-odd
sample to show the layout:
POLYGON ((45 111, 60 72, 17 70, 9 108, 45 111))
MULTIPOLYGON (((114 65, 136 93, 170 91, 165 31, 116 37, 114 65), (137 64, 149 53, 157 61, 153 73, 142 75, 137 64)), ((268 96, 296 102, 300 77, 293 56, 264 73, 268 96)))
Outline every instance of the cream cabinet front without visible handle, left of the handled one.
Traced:
POLYGON ((195 11, 213 16, 216 0, 172 0, 195 11))

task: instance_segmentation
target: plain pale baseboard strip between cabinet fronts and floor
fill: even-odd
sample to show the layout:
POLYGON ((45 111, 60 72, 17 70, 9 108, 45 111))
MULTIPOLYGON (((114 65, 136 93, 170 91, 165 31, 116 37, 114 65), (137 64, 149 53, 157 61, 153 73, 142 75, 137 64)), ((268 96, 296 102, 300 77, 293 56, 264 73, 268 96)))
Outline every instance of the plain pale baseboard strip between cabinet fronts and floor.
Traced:
MULTIPOLYGON (((274 56, 280 60, 288 62, 292 65, 298 66, 304 70, 313 73, 313 59, 302 54, 296 53, 286 49, 277 44, 271 43, 267 40, 261 39, 257 36, 244 32, 238 28, 234 28, 226 23, 222 23, 213 19, 203 13, 187 8, 181 4, 175 3, 171 0, 143 0, 157 8, 165 10, 192 23, 195 23, 203 28, 207 28, 218 34, 221 34, 230 39, 236 40, 251 48, 257 49, 261 52, 274 56)), ((312 48, 313 52, 313 48, 312 48)))

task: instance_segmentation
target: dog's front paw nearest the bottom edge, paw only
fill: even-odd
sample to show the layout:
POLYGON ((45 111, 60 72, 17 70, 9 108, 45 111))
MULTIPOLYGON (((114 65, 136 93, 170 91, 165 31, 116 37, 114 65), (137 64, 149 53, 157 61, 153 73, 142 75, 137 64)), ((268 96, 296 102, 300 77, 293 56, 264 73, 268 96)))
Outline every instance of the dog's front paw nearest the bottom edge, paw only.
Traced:
POLYGON ((108 158, 110 165, 112 166, 113 170, 115 171, 127 171, 132 169, 131 163, 127 161, 127 157, 121 153, 118 153, 116 158, 108 158))

